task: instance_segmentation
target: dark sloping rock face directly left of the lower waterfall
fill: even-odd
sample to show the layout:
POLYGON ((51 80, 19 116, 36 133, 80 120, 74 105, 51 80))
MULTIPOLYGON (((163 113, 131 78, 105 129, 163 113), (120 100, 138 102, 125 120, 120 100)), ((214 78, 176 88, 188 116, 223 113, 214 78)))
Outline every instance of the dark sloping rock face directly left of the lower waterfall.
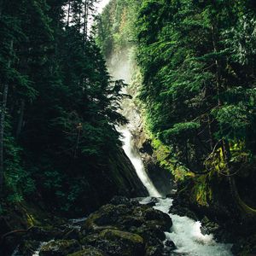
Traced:
POLYGON ((74 211, 68 212, 68 217, 75 218, 88 214, 108 203, 115 195, 127 197, 148 195, 143 183, 137 177, 131 160, 122 148, 118 148, 113 153, 106 152, 106 155, 108 157, 104 163, 96 163, 94 168, 86 171, 83 193, 75 201, 74 211))

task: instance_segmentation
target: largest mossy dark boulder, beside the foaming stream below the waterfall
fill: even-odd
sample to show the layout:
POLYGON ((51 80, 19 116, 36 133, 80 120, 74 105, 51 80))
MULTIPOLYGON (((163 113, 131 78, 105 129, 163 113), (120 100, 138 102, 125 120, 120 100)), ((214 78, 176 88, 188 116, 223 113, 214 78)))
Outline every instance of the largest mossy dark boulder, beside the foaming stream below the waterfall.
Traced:
POLYGON ((130 205, 125 200, 125 204, 106 205, 90 214, 81 229, 80 242, 100 248, 109 255, 144 255, 136 254, 138 251, 156 256, 162 255, 165 231, 171 227, 172 219, 168 214, 133 202, 130 205), (138 237, 142 239, 139 244, 138 237), (145 251, 142 251, 142 242, 145 251), (139 249, 132 253, 134 247, 139 249))

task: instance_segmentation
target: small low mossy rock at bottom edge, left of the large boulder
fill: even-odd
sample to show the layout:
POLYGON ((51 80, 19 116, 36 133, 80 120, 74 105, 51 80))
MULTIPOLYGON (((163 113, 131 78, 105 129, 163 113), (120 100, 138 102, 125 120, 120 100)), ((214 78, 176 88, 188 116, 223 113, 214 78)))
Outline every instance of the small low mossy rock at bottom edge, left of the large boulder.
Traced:
POLYGON ((75 253, 81 249, 79 242, 76 240, 57 240, 45 244, 41 250, 40 256, 66 256, 75 253))

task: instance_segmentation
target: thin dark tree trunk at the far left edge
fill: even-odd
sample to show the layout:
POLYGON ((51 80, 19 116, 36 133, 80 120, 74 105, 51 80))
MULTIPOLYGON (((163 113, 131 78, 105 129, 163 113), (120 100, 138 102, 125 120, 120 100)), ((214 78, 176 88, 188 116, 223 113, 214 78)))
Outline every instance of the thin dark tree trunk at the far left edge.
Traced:
MULTIPOLYGON (((13 49, 14 41, 10 42, 10 52, 13 49)), ((10 68, 11 59, 7 63, 7 68, 10 68)), ((6 82, 3 84, 3 102, 1 106, 1 118, 0 118, 0 193, 3 192, 3 135, 4 135, 4 121, 5 121, 5 112, 7 105, 7 97, 8 97, 9 83, 6 82)))

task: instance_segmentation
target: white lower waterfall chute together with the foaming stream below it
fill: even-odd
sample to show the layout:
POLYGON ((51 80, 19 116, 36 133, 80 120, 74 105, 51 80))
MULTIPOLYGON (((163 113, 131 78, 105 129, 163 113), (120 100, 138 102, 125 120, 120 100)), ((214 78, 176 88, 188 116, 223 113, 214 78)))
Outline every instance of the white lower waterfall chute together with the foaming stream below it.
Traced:
MULTIPOLYGON (((136 169, 137 176, 141 179, 143 185, 148 190, 148 197, 141 201, 141 204, 147 204, 152 197, 157 198, 157 203, 154 209, 160 210, 169 214, 169 209, 172 207, 171 198, 163 198, 154 184, 148 177, 143 166, 137 148, 132 143, 131 131, 126 127, 121 130, 122 140, 124 143, 125 154, 130 158, 131 163, 136 169)), ((214 241, 212 235, 203 235, 201 233, 201 223, 188 217, 181 217, 176 214, 169 214, 172 218, 172 230, 166 232, 166 240, 173 241, 177 246, 171 255, 191 255, 191 256, 230 256, 232 255, 230 244, 218 243, 214 241)))

